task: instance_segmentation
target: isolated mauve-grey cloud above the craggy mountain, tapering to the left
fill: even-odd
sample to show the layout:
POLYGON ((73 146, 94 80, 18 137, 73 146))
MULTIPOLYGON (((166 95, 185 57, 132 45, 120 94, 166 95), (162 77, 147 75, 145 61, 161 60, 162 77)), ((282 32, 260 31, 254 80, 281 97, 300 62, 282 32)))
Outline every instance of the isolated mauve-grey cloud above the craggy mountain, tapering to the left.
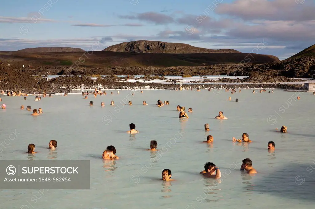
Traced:
POLYGON ((138 13, 136 15, 118 15, 121 19, 137 19, 155 24, 174 23, 173 17, 156 12, 138 13))

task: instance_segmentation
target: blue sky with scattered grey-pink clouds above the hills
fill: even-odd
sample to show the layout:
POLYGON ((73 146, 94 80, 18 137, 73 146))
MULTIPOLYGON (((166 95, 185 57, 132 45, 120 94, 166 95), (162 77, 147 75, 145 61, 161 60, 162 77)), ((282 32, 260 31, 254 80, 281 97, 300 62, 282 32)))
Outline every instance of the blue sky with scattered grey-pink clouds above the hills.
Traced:
POLYGON ((135 40, 235 49, 286 59, 315 44, 315 0, 10 0, 0 51, 100 51, 135 40))

